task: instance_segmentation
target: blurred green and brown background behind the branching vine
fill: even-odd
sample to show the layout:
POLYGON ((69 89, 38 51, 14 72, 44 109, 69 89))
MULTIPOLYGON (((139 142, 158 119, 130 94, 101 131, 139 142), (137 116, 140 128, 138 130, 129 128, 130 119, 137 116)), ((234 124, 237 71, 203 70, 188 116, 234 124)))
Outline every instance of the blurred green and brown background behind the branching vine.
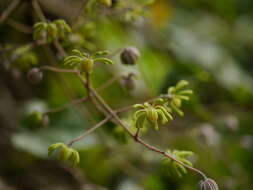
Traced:
MULTIPOLYGON (((15 0, 13 0, 15 1, 15 0)), ((50 20, 72 22, 78 0, 39 0, 50 20)), ((84 1, 85 2, 85 1, 84 1)), ((12 1, 0 1, 0 15, 12 1)), ((108 49, 113 66, 99 66, 94 86, 117 77, 101 95, 113 107, 131 105, 166 92, 178 80, 194 90, 176 117, 143 138, 162 149, 191 150, 194 166, 221 190, 249 190, 253 178, 253 1, 113 0, 112 6, 87 0, 76 29, 61 41, 68 52, 108 49), (120 62, 120 49, 135 46, 135 66, 120 62), (134 89, 121 76, 133 72, 134 89)), ((44 73, 31 85, 34 66, 60 66, 52 46, 27 49, 38 21, 30 1, 0 17, 0 189, 1 190, 193 190, 198 177, 163 171, 162 157, 137 145, 118 126, 106 124, 75 144, 81 162, 72 168, 48 158, 47 147, 68 142, 103 117, 90 103, 50 113, 47 127, 32 126, 29 110, 47 110, 85 95, 71 75, 44 73), (65 81, 65 82, 64 82, 65 81)), ((132 113, 122 115, 131 122, 132 113)))

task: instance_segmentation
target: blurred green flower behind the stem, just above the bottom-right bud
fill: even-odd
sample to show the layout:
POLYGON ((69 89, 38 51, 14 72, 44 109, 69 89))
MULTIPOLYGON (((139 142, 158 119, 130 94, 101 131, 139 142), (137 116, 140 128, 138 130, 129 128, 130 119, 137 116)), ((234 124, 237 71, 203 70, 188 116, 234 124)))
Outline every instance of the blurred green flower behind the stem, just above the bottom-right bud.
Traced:
MULTIPOLYGON (((188 166, 192 166, 192 163, 185 158, 194 155, 194 153, 191 151, 167 150, 166 154, 174 157, 175 159, 181 161, 188 166)), ((182 177, 183 174, 187 173, 187 170, 183 165, 174 160, 171 160, 170 158, 165 158, 163 160, 163 164, 166 166, 167 174, 171 176, 176 175, 178 177, 182 177)))

